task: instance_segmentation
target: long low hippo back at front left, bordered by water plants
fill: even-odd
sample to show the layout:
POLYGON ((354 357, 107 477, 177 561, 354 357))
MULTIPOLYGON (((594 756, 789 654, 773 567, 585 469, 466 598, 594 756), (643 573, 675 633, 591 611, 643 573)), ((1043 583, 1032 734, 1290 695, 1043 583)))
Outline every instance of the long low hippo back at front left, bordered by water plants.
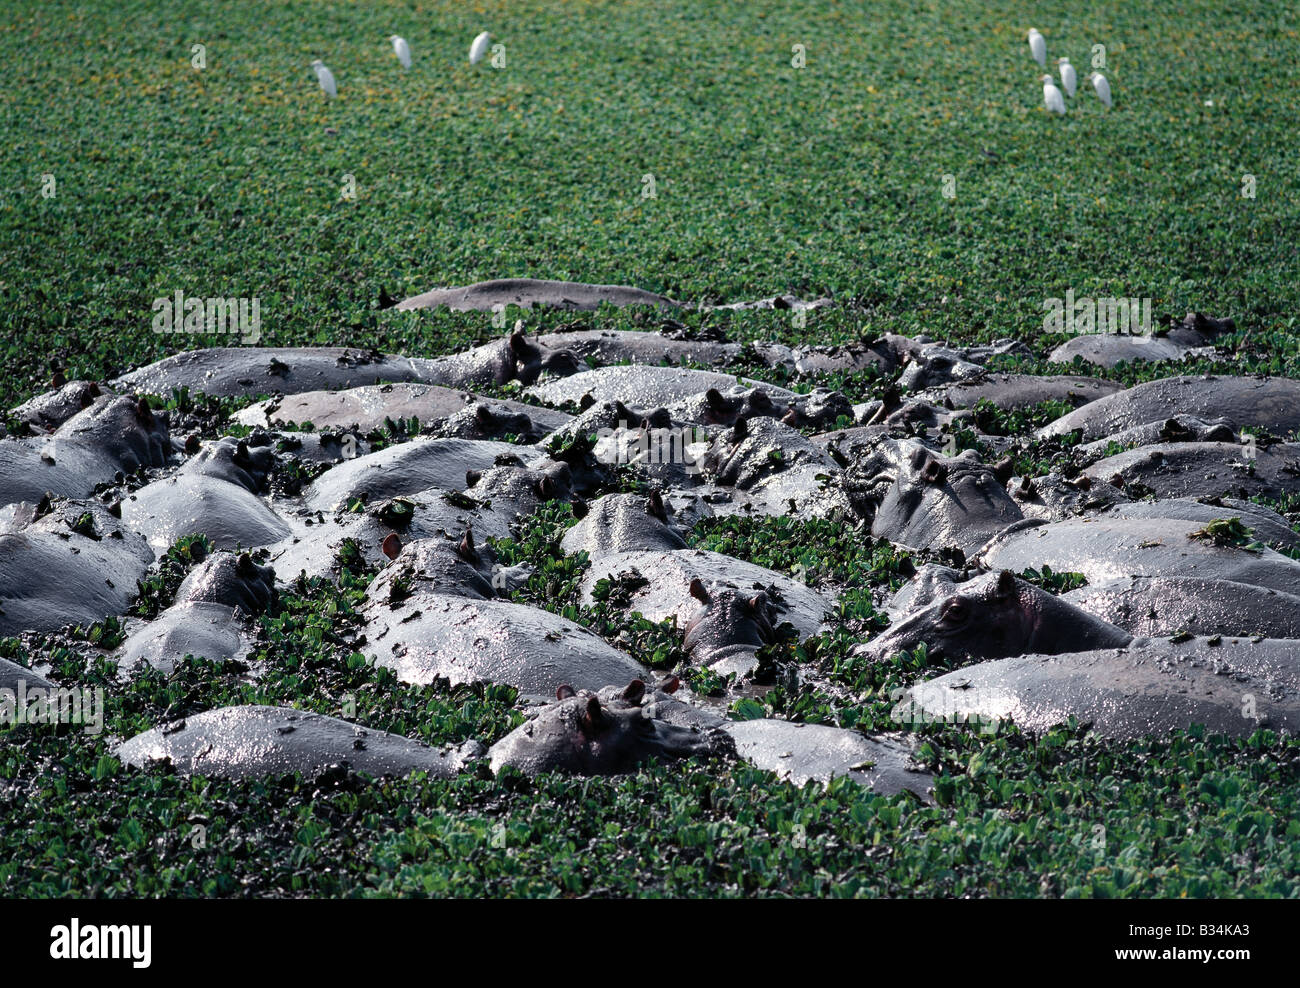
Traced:
POLYGON ((421 741, 290 707, 221 707, 164 724, 120 745, 124 764, 169 763, 182 775, 257 779, 347 767, 372 776, 426 772, 450 779, 473 749, 439 751, 421 741))

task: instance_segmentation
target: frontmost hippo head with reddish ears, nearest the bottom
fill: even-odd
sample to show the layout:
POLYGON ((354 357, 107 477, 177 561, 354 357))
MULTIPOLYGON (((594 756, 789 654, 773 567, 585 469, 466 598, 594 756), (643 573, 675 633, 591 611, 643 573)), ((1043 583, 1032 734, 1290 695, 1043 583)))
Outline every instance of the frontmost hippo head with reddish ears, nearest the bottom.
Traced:
POLYGON ((491 746, 491 768, 618 775, 650 760, 734 754, 725 732, 671 724, 655 716, 655 705, 646 705, 645 694, 641 680, 633 680, 614 702, 560 686, 554 703, 491 746))

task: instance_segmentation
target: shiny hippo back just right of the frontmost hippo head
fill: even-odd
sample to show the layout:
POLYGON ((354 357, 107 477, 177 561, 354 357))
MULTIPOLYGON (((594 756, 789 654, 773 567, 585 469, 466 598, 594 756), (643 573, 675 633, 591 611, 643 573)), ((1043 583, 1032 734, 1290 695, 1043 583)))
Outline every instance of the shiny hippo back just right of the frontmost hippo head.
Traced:
POLYGON ((789 720, 737 720, 723 728, 736 754, 794 785, 848 776, 881 796, 910 792, 930 802, 935 779, 911 763, 911 749, 890 737, 789 720))

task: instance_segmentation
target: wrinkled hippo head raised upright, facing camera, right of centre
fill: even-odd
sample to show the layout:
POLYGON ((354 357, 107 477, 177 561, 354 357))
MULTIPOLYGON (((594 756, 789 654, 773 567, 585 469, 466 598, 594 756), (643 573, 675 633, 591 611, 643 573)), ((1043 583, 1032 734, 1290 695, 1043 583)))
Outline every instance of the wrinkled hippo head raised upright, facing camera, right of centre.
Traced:
POLYGON ((878 538, 970 554, 1023 517, 974 450, 948 458, 919 443, 896 443, 888 460, 871 478, 884 489, 871 526, 878 538))

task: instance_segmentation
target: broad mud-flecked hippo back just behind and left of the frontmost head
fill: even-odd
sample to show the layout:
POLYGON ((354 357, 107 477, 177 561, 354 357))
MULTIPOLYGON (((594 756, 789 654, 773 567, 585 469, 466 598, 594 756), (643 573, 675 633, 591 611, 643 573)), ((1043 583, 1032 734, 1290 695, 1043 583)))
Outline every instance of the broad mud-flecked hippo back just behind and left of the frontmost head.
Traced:
POLYGON ((426 590, 368 597, 368 651, 403 682, 503 682, 547 697, 566 682, 599 689, 645 675, 630 656, 550 611, 426 590))

